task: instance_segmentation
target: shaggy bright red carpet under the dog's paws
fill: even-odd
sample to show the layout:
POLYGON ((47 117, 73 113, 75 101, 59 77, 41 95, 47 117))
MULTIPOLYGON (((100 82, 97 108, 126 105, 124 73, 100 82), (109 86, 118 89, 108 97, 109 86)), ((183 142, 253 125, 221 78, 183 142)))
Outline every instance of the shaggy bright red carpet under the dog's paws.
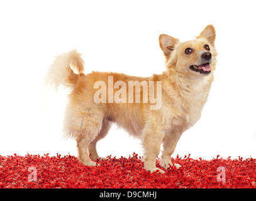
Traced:
MULTIPOLYGON (((135 153, 84 166, 75 156, 0 156, 0 188, 255 188, 256 160, 172 159, 182 168, 148 173, 135 153), (220 168, 219 168, 220 167, 220 168), (218 171, 219 170, 219 171, 218 171), (221 175, 221 177, 220 177, 221 175), (218 181, 219 180, 219 181, 218 181), (221 181, 222 180, 222 181, 221 181)), ((157 160, 157 166, 159 166, 157 160)))

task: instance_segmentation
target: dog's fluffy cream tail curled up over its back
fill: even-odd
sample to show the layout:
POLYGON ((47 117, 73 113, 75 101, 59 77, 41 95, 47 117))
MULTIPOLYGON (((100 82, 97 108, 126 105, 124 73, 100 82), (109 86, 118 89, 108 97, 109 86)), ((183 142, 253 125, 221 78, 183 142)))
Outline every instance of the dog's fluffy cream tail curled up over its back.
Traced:
POLYGON ((44 84, 49 87, 53 86, 56 90, 60 85, 73 88, 79 77, 78 73, 83 71, 84 60, 82 60, 81 54, 76 50, 70 50, 55 57, 52 65, 48 68, 44 84))

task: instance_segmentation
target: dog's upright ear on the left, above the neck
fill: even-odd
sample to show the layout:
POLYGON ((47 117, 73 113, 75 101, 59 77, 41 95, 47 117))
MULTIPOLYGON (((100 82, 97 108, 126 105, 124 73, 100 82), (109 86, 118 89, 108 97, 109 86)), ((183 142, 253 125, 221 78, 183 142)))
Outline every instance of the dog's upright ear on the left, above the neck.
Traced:
POLYGON ((160 48, 164 52, 166 58, 170 57, 170 53, 174 50, 175 44, 179 41, 177 38, 168 36, 166 34, 161 34, 159 36, 160 48))

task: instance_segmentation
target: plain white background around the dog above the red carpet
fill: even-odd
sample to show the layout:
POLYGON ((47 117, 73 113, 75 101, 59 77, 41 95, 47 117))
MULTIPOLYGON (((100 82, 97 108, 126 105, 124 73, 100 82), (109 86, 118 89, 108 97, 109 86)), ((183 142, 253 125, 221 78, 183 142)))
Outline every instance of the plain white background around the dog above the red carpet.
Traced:
MULTIPOLYGON (((173 156, 255 158, 255 3, 234 0, 1 1, 0 155, 77 155, 75 141, 62 139, 67 92, 43 104, 42 80, 55 55, 76 48, 86 73, 148 77, 165 70, 160 34, 192 40, 208 24, 219 53, 214 83, 173 156)), ((100 156, 143 153, 140 141, 116 126, 97 148, 100 156)))

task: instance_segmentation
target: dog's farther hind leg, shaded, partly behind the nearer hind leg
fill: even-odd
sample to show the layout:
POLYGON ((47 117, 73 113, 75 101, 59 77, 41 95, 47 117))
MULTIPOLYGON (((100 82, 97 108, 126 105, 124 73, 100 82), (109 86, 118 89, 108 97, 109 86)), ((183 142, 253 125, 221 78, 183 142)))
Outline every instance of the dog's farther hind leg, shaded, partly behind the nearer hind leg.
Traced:
POLYGON ((97 154, 96 144, 97 144, 97 141, 103 139, 108 134, 108 131, 111 128, 111 126, 112 126, 111 121, 108 121, 107 119, 103 119, 103 124, 102 124, 102 127, 101 127, 101 131, 99 131, 99 134, 97 134, 96 138, 94 138, 89 143, 88 151, 89 151, 89 153, 91 153, 93 161, 96 161, 97 158, 101 158, 103 160, 108 159, 108 158, 99 157, 99 155, 97 154))

